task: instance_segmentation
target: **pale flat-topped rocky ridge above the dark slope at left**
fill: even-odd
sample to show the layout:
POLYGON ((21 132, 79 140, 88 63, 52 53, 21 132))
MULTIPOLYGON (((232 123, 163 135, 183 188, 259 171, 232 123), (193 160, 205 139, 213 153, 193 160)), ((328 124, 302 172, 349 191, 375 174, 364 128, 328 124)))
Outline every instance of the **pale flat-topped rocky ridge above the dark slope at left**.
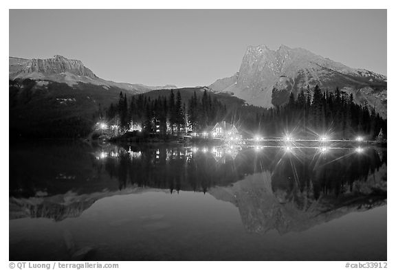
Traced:
POLYGON ((91 69, 85 67, 83 62, 80 60, 67 59, 59 55, 48 59, 24 59, 10 57, 9 72, 10 80, 28 78, 37 81, 66 83, 70 87, 74 87, 79 83, 86 83, 100 86, 103 89, 118 87, 120 89, 130 91, 131 93, 144 93, 157 89, 176 88, 175 85, 148 87, 140 84, 103 80, 96 76, 91 69))

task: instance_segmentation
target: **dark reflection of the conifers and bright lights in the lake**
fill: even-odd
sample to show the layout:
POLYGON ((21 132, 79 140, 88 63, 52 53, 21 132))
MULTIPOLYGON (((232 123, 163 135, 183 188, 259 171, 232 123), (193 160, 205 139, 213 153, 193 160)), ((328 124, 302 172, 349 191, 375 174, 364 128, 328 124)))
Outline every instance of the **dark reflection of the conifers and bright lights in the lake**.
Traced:
POLYGON ((284 187, 289 196, 296 189, 311 191, 314 199, 320 194, 338 196, 351 191, 355 181, 364 181, 386 163, 386 153, 374 148, 325 146, 108 146, 94 155, 118 179, 120 190, 137 185, 170 192, 207 192, 247 175, 270 172, 274 191, 284 187))

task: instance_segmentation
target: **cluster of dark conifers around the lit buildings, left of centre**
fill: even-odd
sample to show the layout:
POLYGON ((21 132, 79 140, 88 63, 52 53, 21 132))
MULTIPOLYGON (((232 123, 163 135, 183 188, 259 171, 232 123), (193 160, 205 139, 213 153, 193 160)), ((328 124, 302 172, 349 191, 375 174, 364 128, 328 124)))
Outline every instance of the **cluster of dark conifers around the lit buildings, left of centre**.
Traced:
POLYGON ((141 128, 146 133, 165 136, 184 133, 187 130, 202 131, 208 125, 224 119, 226 106, 216 98, 203 92, 202 98, 194 93, 188 104, 182 102, 181 94, 170 91, 170 95, 152 99, 135 95, 130 99, 122 92, 118 104, 111 104, 105 113, 107 120, 116 122, 124 133, 131 128, 141 128))

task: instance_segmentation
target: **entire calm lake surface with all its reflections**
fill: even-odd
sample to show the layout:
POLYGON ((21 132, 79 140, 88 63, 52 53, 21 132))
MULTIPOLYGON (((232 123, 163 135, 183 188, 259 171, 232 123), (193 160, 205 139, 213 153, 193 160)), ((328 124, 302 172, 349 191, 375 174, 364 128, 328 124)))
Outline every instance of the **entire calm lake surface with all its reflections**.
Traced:
POLYGON ((10 260, 386 260, 386 150, 13 145, 10 260))

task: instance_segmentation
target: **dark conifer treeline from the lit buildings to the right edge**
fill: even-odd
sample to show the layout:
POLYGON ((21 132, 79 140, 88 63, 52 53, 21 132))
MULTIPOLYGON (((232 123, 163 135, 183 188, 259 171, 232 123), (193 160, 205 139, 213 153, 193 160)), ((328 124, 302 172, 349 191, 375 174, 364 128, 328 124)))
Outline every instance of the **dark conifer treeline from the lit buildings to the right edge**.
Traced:
POLYGON ((157 98, 144 94, 127 98, 120 93, 118 104, 111 104, 100 115, 116 122, 122 133, 140 128, 159 136, 200 133, 220 121, 235 124, 252 136, 259 133, 281 137, 294 133, 300 137, 331 134, 337 139, 353 139, 356 135, 375 139, 381 130, 386 134, 386 120, 375 109, 355 103, 353 94, 338 88, 334 92, 322 91, 318 86, 314 91, 309 87, 303 89, 297 97, 291 93, 287 104, 270 109, 226 106, 206 90, 200 97, 194 92, 187 102, 181 100, 180 91, 173 90, 170 95, 157 98))

